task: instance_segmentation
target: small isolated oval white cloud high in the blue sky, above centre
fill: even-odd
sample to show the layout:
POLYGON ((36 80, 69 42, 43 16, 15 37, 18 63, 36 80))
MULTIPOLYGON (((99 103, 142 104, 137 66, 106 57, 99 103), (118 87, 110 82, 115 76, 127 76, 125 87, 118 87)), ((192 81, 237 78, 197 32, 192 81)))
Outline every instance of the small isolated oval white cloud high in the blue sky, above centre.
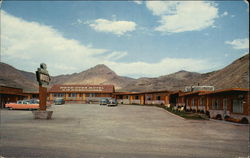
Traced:
POLYGON ((92 29, 98 32, 113 33, 119 36, 136 29, 136 23, 133 21, 110 21, 107 19, 96 19, 92 22, 88 22, 88 24, 92 29))

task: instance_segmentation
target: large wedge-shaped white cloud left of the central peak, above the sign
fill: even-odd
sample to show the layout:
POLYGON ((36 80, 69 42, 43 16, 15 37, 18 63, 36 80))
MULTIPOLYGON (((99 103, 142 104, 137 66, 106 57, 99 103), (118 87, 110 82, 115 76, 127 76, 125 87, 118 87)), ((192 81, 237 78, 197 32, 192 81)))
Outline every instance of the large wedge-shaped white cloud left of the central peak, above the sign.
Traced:
MULTIPOLYGON (((1 11, 2 60, 18 67, 48 64, 52 74, 72 73, 94 66, 94 56, 108 52, 67 39, 56 29, 28 22, 1 11)), ((29 69, 32 71, 34 68, 29 69)))

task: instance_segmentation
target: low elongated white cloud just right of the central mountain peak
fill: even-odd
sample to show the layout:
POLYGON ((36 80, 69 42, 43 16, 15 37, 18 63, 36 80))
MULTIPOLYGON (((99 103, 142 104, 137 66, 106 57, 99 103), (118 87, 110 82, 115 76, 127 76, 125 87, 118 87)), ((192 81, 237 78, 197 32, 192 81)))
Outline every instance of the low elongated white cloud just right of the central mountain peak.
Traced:
POLYGON ((200 72, 211 68, 211 63, 206 60, 184 58, 164 58, 155 63, 138 61, 133 63, 108 62, 105 64, 119 75, 134 77, 158 77, 179 70, 200 72))

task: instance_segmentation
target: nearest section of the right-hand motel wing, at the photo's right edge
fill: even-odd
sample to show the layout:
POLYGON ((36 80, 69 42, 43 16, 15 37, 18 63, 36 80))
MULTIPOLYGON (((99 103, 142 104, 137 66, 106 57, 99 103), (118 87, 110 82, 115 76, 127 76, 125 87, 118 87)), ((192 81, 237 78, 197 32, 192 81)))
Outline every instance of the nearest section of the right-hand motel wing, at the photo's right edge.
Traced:
POLYGON ((199 94, 200 98, 207 99, 207 110, 211 118, 236 120, 247 119, 249 116, 249 89, 231 88, 199 94))

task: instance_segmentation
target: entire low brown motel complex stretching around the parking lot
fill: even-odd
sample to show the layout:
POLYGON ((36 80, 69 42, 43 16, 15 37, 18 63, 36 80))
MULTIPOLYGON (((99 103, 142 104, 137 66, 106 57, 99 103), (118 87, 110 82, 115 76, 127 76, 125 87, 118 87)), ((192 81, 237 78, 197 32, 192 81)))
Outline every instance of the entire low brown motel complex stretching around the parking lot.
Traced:
MULTIPOLYGON (((32 98, 39 98, 38 92, 0 85, 0 108, 5 108, 6 103, 32 98)), ((66 103, 82 104, 116 98, 119 104, 184 107, 186 111, 205 113, 210 118, 250 121, 249 89, 243 88, 214 90, 209 86, 192 86, 186 92, 115 92, 114 85, 54 85, 48 90, 47 101, 53 103, 56 98, 64 98, 66 103)))

